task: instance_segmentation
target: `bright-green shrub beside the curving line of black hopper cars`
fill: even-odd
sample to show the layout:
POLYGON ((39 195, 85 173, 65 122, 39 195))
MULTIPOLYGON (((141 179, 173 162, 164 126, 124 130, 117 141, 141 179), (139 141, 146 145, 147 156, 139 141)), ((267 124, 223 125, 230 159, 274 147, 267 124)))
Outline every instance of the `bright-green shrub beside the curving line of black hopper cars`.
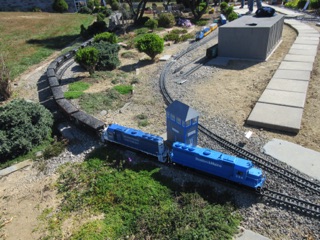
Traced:
POLYGON ((94 73, 98 62, 98 50, 94 47, 79 49, 76 53, 75 61, 88 70, 91 75, 94 73))

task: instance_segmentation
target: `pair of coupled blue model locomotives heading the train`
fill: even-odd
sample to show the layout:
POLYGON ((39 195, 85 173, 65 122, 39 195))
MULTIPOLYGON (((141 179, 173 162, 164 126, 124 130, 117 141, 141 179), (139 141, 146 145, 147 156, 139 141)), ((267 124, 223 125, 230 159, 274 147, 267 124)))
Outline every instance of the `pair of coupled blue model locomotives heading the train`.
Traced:
POLYGON ((266 180, 261 169, 249 160, 211 149, 174 142, 166 146, 164 139, 141 130, 110 124, 101 135, 104 143, 113 142, 155 156, 160 162, 171 162, 205 172, 260 191, 266 180))

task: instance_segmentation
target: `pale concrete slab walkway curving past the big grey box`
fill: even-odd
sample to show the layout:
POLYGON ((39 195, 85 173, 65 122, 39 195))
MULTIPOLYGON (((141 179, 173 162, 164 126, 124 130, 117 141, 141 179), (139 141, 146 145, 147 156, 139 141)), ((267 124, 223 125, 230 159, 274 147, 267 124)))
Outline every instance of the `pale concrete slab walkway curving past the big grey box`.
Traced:
MULTIPOLYGON (((298 32, 298 37, 254 106, 246 123, 256 127, 298 133, 311 71, 317 55, 320 29, 316 30, 293 19, 304 15, 303 13, 276 6, 270 7, 274 8, 277 14, 285 15, 285 23, 298 32)), ((235 11, 245 14, 248 9, 235 7, 235 11)), ((253 12, 255 11, 256 9, 253 12)))

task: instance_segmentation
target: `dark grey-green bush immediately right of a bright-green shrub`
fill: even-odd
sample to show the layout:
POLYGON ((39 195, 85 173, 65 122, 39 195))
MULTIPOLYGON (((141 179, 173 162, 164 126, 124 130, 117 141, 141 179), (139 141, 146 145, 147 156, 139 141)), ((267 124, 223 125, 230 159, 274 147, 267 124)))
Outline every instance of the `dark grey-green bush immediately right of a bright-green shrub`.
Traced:
POLYGON ((98 50, 97 70, 112 71, 120 66, 118 57, 120 46, 118 44, 100 41, 93 43, 92 46, 98 50))

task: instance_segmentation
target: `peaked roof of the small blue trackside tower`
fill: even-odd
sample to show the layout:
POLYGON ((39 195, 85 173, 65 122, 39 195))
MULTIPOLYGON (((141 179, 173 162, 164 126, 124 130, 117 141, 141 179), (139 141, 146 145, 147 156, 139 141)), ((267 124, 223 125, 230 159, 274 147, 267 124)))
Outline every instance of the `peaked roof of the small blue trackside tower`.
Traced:
POLYGON ((189 121, 193 118, 199 117, 199 113, 188 105, 175 100, 171 103, 166 111, 169 113, 173 113, 175 116, 181 118, 184 121, 189 121))

